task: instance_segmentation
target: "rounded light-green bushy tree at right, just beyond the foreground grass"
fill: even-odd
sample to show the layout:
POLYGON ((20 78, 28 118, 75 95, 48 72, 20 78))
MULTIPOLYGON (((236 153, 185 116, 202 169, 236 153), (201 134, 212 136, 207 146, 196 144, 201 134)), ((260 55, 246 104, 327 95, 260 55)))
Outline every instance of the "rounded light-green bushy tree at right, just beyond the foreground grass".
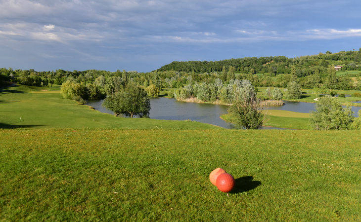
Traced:
POLYGON ((351 107, 342 108, 337 99, 320 98, 310 121, 316 130, 349 129, 354 116, 351 107))

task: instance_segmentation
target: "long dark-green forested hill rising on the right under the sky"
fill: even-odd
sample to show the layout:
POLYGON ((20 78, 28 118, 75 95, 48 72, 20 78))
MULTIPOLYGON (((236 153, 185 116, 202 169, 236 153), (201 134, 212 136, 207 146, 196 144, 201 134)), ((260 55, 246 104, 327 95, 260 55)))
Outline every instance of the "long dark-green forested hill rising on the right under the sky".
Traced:
MULTIPOLYGON (((245 57, 241 59, 226 59, 221 61, 187 61, 172 62, 156 71, 177 71, 211 73, 221 72, 224 67, 230 66, 239 73, 291 73, 291 69, 302 69, 312 67, 326 68, 328 65, 343 65, 343 70, 361 70, 361 48, 360 51, 340 51, 338 53, 319 53, 318 55, 287 58, 285 56, 275 57, 245 57)), ((306 74, 307 75, 307 74, 306 74)), ((301 74, 302 76, 302 74, 301 74)))

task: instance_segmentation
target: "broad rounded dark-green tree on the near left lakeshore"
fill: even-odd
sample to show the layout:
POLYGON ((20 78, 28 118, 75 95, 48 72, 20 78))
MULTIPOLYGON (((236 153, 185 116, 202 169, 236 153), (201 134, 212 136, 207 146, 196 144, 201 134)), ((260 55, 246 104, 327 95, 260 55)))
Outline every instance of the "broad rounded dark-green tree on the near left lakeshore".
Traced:
POLYGON ((117 92, 107 95, 102 106, 113 111, 116 116, 124 114, 131 118, 134 115, 148 117, 150 110, 147 93, 134 82, 129 82, 117 92))

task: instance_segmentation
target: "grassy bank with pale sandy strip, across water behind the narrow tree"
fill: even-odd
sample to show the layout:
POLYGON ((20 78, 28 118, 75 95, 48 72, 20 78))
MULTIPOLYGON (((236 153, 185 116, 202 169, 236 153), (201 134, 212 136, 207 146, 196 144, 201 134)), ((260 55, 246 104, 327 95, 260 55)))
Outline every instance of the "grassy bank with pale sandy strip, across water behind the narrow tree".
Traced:
MULTIPOLYGON (((309 118, 310 113, 283 111, 283 110, 265 110, 267 122, 264 126, 287 129, 312 129, 309 118)), ((221 118, 227 122, 233 122, 231 114, 221 115, 221 118)))

